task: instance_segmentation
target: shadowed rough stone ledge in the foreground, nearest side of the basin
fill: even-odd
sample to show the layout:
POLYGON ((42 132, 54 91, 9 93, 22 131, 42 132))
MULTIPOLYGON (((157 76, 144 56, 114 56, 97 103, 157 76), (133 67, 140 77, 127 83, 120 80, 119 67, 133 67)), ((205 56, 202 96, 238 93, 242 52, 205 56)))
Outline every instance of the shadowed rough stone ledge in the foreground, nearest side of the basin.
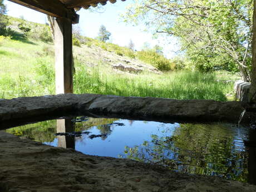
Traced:
POLYGON ((0 191, 255 192, 256 186, 178 174, 132 160, 84 155, 0 131, 0 191))

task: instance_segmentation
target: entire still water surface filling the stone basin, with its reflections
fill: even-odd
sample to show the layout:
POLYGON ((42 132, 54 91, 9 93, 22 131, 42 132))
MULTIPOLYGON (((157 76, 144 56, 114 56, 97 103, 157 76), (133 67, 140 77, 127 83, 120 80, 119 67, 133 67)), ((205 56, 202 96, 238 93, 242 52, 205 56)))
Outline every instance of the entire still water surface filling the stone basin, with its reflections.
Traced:
POLYGON ((250 183, 255 183, 256 178, 255 131, 238 125, 67 117, 6 131, 88 155, 161 164, 181 173, 250 183))

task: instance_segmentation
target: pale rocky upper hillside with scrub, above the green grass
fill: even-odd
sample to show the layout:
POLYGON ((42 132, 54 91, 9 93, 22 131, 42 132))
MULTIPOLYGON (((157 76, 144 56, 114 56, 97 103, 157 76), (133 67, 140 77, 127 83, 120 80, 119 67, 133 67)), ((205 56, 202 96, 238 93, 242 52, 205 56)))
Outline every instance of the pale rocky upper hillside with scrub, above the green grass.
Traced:
MULTIPOLYGON (((14 40, 16 39, 23 42, 32 41, 35 44, 38 44, 38 41, 43 41, 47 44, 43 47, 43 51, 46 51, 46 54, 50 54, 51 56, 54 54, 51 33, 47 24, 28 22, 21 18, 8 18, 10 23, 9 28, 12 29, 10 36, 14 40)), ((78 41, 76 37, 74 38, 74 41, 78 41)), ((139 73, 142 71, 149 71, 160 73, 159 70, 149 63, 142 62, 135 58, 135 52, 126 47, 100 42, 83 36, 80 38, 84 41, 83 43, 79 43, 79 46, 73 46, 73 54, 78 62, 83 63, 88 67, 97 66, 100 63, 102 66, 106 65, 106 67, 112 68, 112 71, 114 72, 125 71, 139 73), (90 41, 90 44, 88 41, 90 41), (115 52, 115 50, 107 51, 106 48, 104 49, 104 47, 107 47, 107 44, 112 45, 112 47, 114 47, 115 50, 119 50, 119 52, 115 52), (127 57, 124 53, 121 53, 124 50, 126 52, 128 50, 134 58, 127 57)))

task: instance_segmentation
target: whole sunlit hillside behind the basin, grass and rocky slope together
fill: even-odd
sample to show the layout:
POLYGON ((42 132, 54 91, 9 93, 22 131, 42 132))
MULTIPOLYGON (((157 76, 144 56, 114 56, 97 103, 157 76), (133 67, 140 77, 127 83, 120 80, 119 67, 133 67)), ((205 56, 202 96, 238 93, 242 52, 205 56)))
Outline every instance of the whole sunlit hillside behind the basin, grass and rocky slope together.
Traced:
MULTIPOLYGON (((54 45, 48 41, 48 26, 24 21, 18 26, 19 22, 11 26, 12 39, 0 36, 0 99, 55 94, 54 45), (22 33, 23 27, 28 32, 22 33)), ((156 70, 152 65, 170 66, 171 62, 154 50, 134 52, 82 37, 73 53, 77 94, 226 101, 233 91, 232 83, 217 81, 233 78, 227 73, 220 77, 220 73, 156 70)))

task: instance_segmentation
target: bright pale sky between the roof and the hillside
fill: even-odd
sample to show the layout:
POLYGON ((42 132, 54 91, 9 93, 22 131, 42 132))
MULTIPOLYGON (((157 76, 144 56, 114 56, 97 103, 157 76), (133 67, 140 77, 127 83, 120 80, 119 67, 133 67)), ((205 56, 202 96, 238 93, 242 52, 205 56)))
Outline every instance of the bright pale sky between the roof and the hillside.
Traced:
MULTIPOLYGON (((144 32, 145 27, 132 26, 132 24, 127 24, 120 22, 120 13, 125 12, 125 7, 133 3, 132 0, 127 0, 122 2, 117 0, 115 4, 107 2, 104 6, 105 11, 103 13, 93 13, 85 9, 81 9, 77 13, 80 14, 79 27, 82 29, 82 34, 87 37, 95 38, 98 35, 99 28, 103 24, 108 31, 111 32, 111 42, 120 46, 127 46, 130 39, 134 42, 136 50, 140 50, 144 42, 149 42, 151 47, 154 45, 160 45, 164 47, 165 56, 171 58, 175 55, 175 51, 178 47, 176 41, 173 38, 168 37, 169 41, 166 41, 164 37, 159 37, 156 40, 152 38, 151 33, 144 32), (173 43, 166 43, 173 42, 173 43)), ((16 3, 4 1, 7 5, 9 16, 20 17, 23 16, 26 20, 46 23, 46 15, 32 9, 19 6, 16 3)))

